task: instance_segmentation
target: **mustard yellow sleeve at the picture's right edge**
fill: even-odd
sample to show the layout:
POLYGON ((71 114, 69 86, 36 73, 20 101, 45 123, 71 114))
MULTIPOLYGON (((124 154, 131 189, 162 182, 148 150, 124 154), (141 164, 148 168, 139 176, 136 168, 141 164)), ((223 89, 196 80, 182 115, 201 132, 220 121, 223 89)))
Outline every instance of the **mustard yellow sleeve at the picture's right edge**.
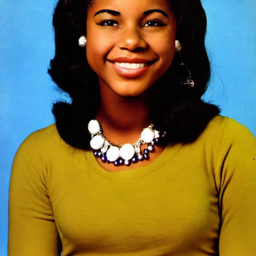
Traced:
POLYGON ((253 135, 241 124, 228 120, 220 155, 220 256, 255 256, 256 142, 253 135))

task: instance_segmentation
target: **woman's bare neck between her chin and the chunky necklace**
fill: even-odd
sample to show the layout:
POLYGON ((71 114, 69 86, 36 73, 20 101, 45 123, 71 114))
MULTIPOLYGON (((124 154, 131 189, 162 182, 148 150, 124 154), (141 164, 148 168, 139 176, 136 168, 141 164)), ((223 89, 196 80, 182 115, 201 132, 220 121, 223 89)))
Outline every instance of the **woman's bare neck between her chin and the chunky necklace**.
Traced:
POLYGON ((136 142, 143 128, 151 124, 148 98, 148 91, 135 97, 121 97, 112 90, 101 90, 96 119, 104 136, 115 144, 136 142))

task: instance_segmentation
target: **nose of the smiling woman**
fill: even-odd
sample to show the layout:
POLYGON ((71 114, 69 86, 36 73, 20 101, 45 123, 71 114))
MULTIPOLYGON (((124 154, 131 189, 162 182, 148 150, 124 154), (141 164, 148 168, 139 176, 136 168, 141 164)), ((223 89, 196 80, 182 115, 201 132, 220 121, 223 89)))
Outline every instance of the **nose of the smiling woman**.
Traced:
POLYGON ((123 28, 118 40, 120 49, 134 51, 144 50, 148 46, 139 29, 134 27, 123 28))

